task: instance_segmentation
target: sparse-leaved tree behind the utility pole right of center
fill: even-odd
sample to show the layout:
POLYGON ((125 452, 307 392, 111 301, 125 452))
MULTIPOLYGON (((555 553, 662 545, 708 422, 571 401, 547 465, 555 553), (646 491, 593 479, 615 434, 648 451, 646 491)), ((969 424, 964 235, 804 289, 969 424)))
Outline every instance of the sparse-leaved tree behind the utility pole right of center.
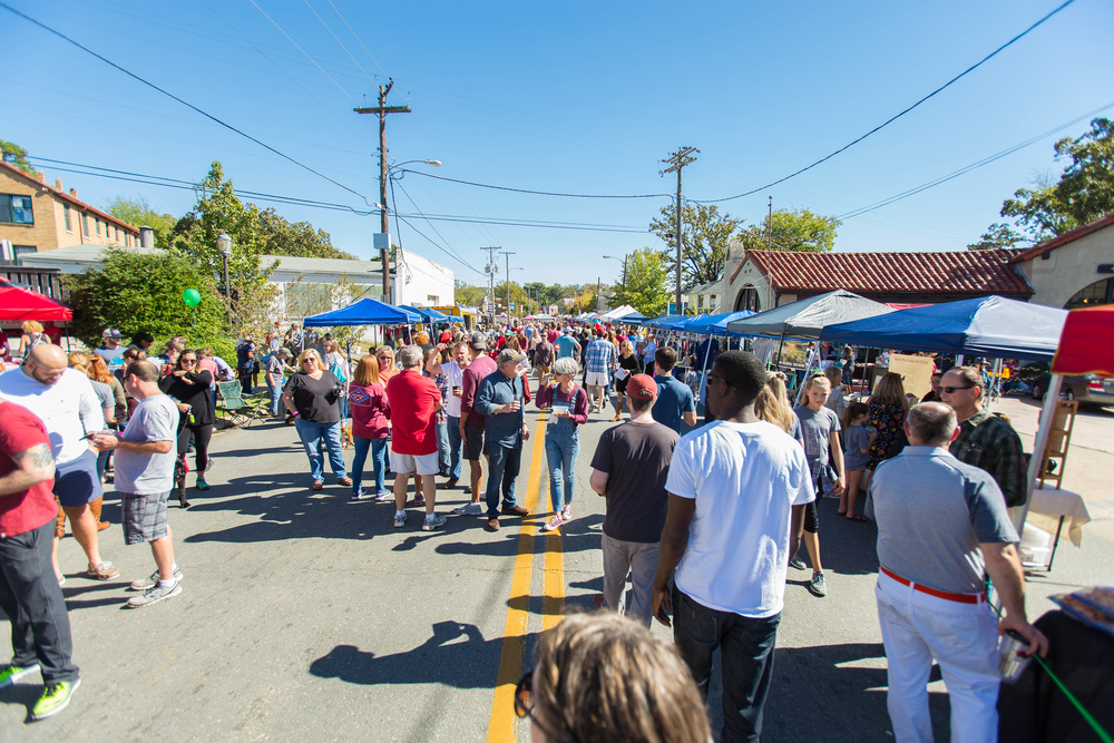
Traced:
MULTIPOLYGON (((649 223, 649 231, 670 245, 661 251, 665 271, 676 271, 677 207, 673 204, 662 207, 662 216, 649 223)), ((701 284, 720 281, 723 263, 727 257, 727 245, 735 231, 743 223, 732 219, 727 213, 720 214, 714 204, 685 204, 681 208, 681 286, 687 291, 701 284)))

